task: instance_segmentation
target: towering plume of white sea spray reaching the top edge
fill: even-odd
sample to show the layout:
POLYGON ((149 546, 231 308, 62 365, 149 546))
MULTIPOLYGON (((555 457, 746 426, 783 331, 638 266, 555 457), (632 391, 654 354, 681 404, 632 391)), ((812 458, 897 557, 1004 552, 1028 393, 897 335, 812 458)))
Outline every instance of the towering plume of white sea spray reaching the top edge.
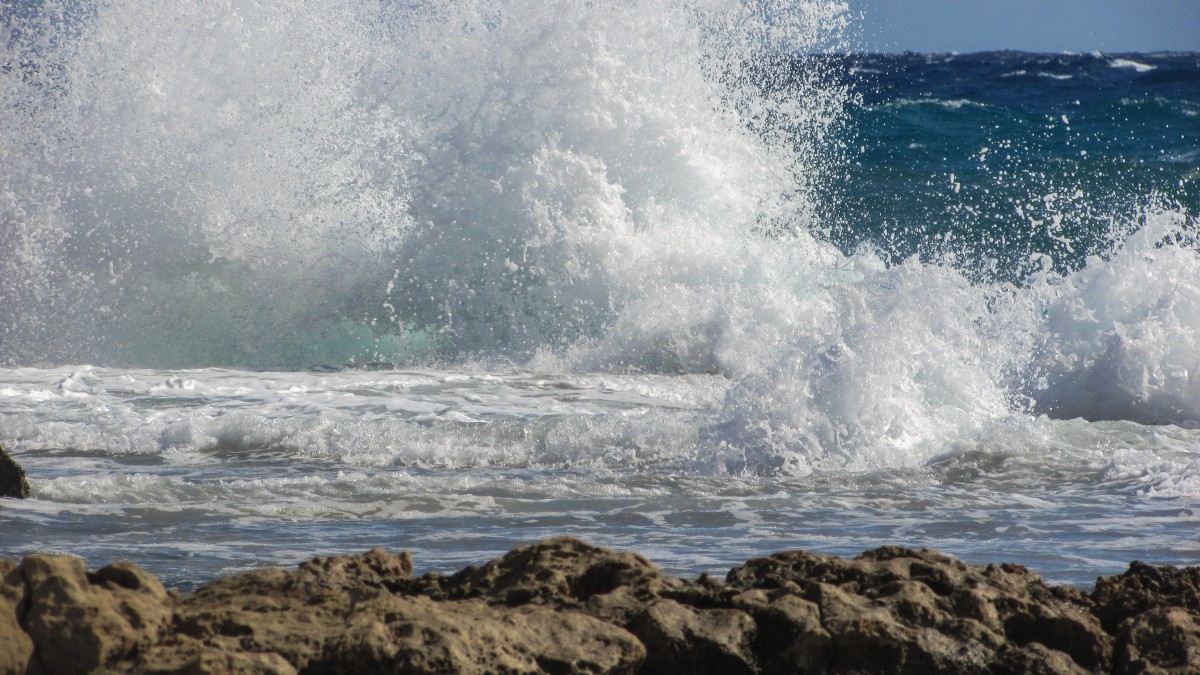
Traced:
MULTIPOLYGON (((821 4, 764 13, 17 12, 4 262, 22 311, 4 362, 521 364, 604 338, 656 293, 737 286, 752 231, 808 238, 809 145, 845 97, 805 77, 755 94, 748 64, 839 24, 821 4), (812 138, 793 148, 743 117, 812 138)), ((634 358, 674 368, 660 357, 634 358)))

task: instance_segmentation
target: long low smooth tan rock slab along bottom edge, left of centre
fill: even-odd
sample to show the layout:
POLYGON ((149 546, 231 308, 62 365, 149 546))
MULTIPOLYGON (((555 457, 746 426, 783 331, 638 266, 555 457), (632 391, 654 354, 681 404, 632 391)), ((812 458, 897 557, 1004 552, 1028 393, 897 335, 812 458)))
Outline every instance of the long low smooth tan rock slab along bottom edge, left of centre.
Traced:
POLYGON ((235 655, 246 673, 288 671, 282 663, 305 673, 632 673, 644 656, 632 635, 589 616, 481 601, 394 597, 354 614, 294 607, 185 616, 190 634, 164 640, 130 671, 217 673, 227 668, 217 658, 235 655))

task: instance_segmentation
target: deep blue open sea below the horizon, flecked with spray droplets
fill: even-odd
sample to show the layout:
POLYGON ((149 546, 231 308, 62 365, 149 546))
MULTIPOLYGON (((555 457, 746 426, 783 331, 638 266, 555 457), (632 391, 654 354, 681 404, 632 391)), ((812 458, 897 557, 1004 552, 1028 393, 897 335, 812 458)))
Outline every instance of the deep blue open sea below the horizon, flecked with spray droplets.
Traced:
POLYGON ((1067 270, 1109 252, 1141 210, 1200 209, 1196 54, 841 59, 860 96, 833 186, 844 246, 1020 279, 1034 256, 1067 270))

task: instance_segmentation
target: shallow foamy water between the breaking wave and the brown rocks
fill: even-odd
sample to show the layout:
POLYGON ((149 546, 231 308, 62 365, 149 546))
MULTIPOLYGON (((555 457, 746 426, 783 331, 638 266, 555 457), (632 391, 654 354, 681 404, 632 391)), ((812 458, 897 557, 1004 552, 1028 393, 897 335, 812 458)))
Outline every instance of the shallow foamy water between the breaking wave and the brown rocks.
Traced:
POLYGON ((1200 430, 1013 416, 912 468, 730 476, 721 376, 4 372, 34 498, 5 552, 131 558, 172 585, 373 545, 454 571, 571 533, 685 575, 785 548, 936 546, 1079 585, 1200 556, 1200 430))

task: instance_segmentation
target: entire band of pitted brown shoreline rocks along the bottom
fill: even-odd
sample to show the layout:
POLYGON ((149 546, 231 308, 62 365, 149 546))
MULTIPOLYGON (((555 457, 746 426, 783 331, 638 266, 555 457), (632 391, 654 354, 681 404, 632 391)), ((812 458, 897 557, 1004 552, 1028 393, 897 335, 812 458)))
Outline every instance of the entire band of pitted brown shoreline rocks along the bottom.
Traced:
POLYGON ((127 562, 0 560, 0 673, 1200 673, 1200 567, 1084 593, 886 546, 685 580, 562 537, 412 571, 373 549, 181 595, 127 562))

